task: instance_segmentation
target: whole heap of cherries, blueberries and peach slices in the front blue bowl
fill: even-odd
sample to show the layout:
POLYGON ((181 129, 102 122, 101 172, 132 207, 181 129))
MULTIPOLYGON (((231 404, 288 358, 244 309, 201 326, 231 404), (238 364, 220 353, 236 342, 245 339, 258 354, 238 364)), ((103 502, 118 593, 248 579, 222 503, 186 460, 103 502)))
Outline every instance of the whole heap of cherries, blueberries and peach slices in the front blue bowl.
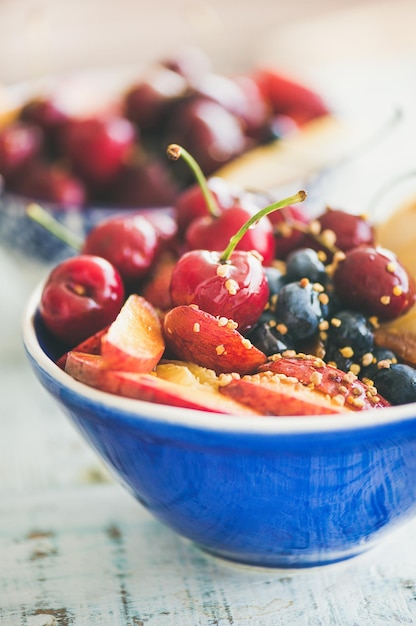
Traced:
POLYGON ((187 150, 168 155, 199 183, 175 214, 108 218, 47 278, 39 313, 61 368, 110 393, 229 414, 416 401, 416 353, 400 333, 393 351, 386 330, 415 284, 364 216, 309 220, 303 191, 265 205, 206 181, 187 150))

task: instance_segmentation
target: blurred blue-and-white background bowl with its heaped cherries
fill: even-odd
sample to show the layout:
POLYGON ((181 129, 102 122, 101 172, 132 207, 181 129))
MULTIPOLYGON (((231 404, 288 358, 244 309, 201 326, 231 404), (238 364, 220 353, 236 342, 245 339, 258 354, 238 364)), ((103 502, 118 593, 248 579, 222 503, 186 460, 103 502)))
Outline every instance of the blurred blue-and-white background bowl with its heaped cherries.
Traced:
POLYGON ((79 238, 114 212, 171 207, 193 180, 187 168, 169 167, 169 143, 193 152, 211 176, 274 141, 276 115, 292 119, 293 132, 329 112, 296 85, 274 71, 220 75, 201 51, 140 71, 83 71, 52 77, 46 88, 25 85, 0 118, 0 244, 42 264, 73 253, 27 217, 33 200, 79 238))

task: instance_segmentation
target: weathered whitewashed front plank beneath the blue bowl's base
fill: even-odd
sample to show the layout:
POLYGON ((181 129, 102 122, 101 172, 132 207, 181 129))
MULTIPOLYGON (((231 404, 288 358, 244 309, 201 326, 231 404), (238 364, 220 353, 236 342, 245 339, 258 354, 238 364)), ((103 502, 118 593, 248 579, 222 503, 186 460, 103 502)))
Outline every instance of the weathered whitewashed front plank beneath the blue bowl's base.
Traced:
POLYGON ((228 564, 113 484, 3 497, 1 626, 416 623, 416 521, 343 564, 228 564))

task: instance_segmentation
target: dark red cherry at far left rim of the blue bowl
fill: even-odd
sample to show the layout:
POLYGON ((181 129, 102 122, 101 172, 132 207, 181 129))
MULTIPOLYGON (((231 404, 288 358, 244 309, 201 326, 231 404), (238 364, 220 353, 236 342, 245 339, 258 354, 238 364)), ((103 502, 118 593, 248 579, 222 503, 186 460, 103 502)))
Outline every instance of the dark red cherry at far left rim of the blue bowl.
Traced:
POLYGON ((123 281, 114 266, 101 257, 79 255, 51 271, 39 312, 56 339, 76 346, 108 326, 123 301, 123 281))

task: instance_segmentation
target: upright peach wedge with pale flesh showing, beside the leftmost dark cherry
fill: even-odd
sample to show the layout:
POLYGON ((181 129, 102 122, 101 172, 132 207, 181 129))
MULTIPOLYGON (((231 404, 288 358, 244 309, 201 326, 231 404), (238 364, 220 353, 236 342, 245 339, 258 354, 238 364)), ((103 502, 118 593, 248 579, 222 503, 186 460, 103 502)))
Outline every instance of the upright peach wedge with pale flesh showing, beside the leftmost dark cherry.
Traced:
POLYGON ((112 369, 150 372, 165 350, 155 308, 145 298, 131 295, 101 340, 101 355, 112 369))

